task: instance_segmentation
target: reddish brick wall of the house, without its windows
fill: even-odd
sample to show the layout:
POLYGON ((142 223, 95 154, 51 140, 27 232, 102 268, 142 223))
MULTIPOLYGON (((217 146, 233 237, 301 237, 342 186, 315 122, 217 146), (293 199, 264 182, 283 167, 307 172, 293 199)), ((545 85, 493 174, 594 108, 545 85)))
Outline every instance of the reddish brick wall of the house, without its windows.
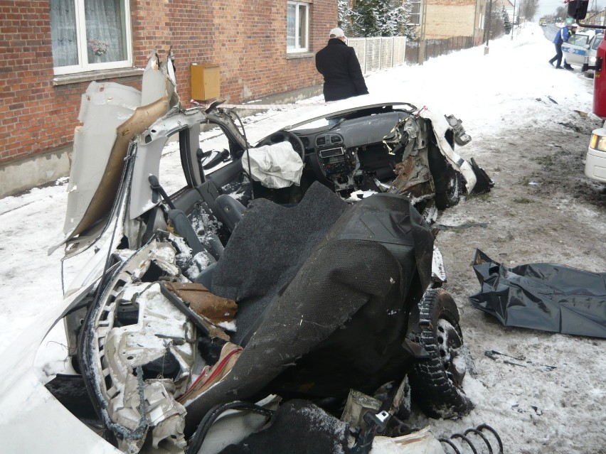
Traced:
MULTIPOLYGON (((190 63, 220 67, 220 94, 242 102, 321 83, 313 55, 287 58, 286 0, 131 0, 134 65, 173 45, 177 90, 191 98, 190 63)), ((90 82, 53 85, 48 0, 0 0, 0 164, 69 144, 90 82)), ((314 0, 312 53, 336 26, 336 1, 314 0)), ((140 89, 139 77, 104 79, 140 89)))

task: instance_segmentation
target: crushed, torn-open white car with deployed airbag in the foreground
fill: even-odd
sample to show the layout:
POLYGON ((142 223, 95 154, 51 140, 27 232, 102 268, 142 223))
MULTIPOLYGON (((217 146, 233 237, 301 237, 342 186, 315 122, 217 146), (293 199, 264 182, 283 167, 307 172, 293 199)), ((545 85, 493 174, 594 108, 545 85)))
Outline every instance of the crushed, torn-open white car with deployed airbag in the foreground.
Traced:
POLYGON ((14 384, 31 424, 82 452, 363 453, 412 432, 410 399, 471 411, 430 228, 490 183, 458 119, 359 97, 252 146, 235 111, 182 109, 155 54, 141 93, 93 82, 79 118, 58 247, 92 257, 53 314, 70 373, 14 384))

